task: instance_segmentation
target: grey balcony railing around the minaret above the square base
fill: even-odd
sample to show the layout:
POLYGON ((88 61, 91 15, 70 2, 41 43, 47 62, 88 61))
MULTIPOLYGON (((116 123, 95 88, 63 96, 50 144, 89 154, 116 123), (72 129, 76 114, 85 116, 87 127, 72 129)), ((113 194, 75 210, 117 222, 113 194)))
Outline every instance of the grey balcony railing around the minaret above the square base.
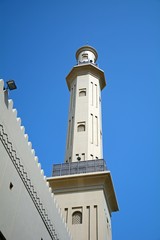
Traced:
POLYGON ((80 173, 91 173, 106 171, 106 162, 104 159, 70 162, 53 165, 52 176, 64 176, 80 173))

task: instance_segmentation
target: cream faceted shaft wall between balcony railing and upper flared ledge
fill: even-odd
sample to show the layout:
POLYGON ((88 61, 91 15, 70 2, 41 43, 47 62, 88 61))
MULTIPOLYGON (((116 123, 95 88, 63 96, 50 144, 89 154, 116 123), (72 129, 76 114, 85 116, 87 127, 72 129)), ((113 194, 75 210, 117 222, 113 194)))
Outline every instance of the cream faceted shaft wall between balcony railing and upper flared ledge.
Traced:
POLYGON ((65 161, 102 159, 101 89, 99 79, 91 74, 77 76, 71 85, 68 136, 65 161), (79 96, 85 90, 86 96, 79 96), (78 124, 85 131, 78 132, 78 124), (83 157, 84 156, 84 157, 83 157))

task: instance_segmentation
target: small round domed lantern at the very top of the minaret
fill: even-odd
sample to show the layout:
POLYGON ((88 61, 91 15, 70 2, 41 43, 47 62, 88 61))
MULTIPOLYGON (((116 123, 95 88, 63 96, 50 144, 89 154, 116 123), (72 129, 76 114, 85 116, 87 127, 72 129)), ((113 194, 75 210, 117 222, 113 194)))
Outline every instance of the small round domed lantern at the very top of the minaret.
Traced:
POLYGON ((83 46, 76 52, 76 59, 78 64, 93 63, 96 64, 98 58, 97 51, 91 46, 83 46))

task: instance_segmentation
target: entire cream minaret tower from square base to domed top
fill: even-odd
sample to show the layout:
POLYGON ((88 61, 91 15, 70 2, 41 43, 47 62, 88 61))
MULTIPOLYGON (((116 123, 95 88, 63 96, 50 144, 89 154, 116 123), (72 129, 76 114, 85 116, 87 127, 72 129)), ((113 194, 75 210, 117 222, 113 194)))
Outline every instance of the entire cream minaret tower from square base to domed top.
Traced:
POLYGON ((73 240, 111 240, 111 214, 118 211, 102 151, 101 90, 106 81, 90 46, 76 52, 67 75, 71 93, 65 162, 53 165, 48 182, 73 240))

